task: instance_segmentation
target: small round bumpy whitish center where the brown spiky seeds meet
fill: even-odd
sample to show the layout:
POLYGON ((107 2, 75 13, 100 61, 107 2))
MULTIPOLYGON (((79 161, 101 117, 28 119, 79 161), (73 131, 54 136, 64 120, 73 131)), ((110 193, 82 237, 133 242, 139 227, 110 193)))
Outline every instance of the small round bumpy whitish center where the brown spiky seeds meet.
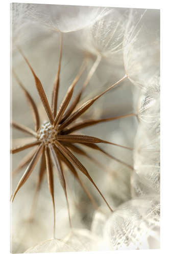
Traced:
POLYGON ((38 132, 38 139, 44 144, 54 143, 57 138, 57 131, 51 123, 44 123, 41 125, 38 132))

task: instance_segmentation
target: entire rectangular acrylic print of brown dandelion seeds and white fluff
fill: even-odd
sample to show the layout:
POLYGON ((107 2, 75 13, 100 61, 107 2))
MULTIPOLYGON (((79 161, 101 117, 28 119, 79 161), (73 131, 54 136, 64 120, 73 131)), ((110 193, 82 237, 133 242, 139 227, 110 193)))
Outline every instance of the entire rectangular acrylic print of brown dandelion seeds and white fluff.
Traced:
POLYGON ((11 252, 159 248, 160 11, 11 4, 11 252))

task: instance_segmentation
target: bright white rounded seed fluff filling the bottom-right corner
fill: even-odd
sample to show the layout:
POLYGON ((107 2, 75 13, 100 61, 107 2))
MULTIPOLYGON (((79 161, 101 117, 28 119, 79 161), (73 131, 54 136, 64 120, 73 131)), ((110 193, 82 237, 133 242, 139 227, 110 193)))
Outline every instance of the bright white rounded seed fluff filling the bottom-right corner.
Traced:
POLYGON ((104 239, 113 249, 147 249, 148 237, 155 236, 153 229, 159 226, 159 197, 139 197, 120 205, 108 218, 104 227, 104 239))

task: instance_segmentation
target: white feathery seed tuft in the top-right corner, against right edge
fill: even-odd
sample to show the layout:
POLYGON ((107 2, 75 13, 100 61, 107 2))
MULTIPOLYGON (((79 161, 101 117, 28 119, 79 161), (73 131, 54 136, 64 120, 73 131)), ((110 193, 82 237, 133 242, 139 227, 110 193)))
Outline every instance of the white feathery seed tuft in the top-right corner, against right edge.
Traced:
MULTIPOLYGON (((159 28, 148 23, 153 10, 131 10, 123 42, 124 66, 130 81, 143 87, 159 71, 159 28)), ((159 13, 158 13, 159 15, 159 13)))

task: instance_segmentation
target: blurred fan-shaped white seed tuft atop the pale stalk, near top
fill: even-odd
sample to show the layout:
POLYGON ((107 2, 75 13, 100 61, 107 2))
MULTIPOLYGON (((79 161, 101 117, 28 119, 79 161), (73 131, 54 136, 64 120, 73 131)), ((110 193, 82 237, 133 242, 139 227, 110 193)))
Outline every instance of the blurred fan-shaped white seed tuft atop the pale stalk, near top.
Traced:
POLYGON ((118 63, 119 58, 122 59, 125 27, 125 16, 118 9, 110 8, 105 15, 78 32, 77 40, 85 51, 101 55, 114 65, 115 61, 118 63))

